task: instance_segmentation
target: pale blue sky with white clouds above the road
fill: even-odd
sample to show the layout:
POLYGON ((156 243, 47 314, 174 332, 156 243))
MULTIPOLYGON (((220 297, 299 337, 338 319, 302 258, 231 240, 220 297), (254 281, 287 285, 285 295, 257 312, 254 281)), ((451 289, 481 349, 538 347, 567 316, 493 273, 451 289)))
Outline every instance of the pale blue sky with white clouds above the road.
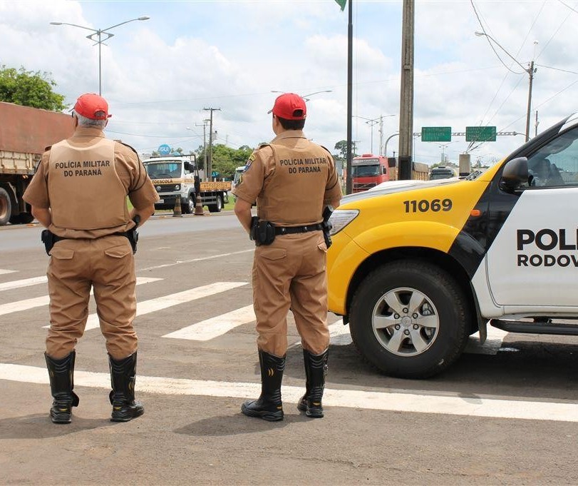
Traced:
MULTIPOLYGON (((531 135, 536 111, 540 132, 577 109, 578 1, 416 0, 415 14, 414 132, 481 125, 525 133, 524 69, 532 60, 531 135), (475 36, 482 30, 498 44, 475 36)), ((78 94, 98 92, 98 46, 86 39, 91 31, 50 22, 106 29, 140 16, 150 19, 111 29, 102 46, 111 138, 139 153, 162 143, 195 150, 205 108, 220 108, 213 112, 215 143, 254 147, 273 137, 272 91, 321 91, 307 103, 306 135, 333 152, 346 138, 348 15, 334 0, 0 0, 0 65, 48 71, 72 105, 78 94)), ((387 155, 397 152, 401 24, 401 1, 353 0, 358 153, 383 153, 390 136, 387 155)), ((524 140, 482 143, 472 161, 491 163, 524 140)), ((451 143, 416 137, 413 158, 431 164, 445 153, 457 161, 469 145, 463 136, 451 143)))

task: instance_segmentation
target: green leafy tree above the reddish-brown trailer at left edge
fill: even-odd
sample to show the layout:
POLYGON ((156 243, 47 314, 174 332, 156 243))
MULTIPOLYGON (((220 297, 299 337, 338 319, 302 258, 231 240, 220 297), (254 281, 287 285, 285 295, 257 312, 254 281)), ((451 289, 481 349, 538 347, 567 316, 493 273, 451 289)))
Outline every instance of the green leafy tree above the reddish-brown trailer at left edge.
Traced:
POLYGON ((26 71, 23 67, 16 70, 0 66, 0 101, 17 105, 43 108, 51 111, 63 111, 64 96, 53 91, 56 83, 51 74, 40 71, 26 71))

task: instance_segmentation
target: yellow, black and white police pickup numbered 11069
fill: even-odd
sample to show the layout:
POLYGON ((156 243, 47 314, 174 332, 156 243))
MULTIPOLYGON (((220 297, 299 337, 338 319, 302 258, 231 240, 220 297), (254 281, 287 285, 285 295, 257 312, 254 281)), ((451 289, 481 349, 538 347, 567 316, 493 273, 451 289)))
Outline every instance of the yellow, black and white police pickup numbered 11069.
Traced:
POLYGON ((427 378, 487 323, 578 335, 578 114, 471 178, 388 184, 330 220, 329 310, 369 363, 427 378))

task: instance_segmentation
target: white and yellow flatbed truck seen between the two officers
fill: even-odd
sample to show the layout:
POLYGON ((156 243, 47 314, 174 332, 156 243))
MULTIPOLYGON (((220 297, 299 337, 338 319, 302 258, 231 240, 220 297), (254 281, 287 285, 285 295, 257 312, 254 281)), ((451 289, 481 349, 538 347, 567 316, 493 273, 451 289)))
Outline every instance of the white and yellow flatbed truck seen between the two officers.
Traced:
MULTIPOLYGON (((148 158, 143 164, 160 197, 155 209, 173 209, 176 199, 180 198, 182 213, 195 211, 195 176, 198 177, 198 171, 194 160, 167 156, 148 158)), ((229 202, 228 191, 231 191, 230 181, 199 182, 201 204, 207 206, 211 213, 220 213, 225 203, 229 202)))

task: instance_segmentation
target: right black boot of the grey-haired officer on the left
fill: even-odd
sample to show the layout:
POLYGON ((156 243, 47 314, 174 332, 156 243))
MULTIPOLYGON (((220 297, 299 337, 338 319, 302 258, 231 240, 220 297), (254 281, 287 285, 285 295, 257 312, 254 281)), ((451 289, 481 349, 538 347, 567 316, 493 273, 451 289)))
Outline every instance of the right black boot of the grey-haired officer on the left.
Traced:
POLYGON ((113 387, 109 395, 110 403, 113 405, 110 421, 128 422, 140 417, 145 412, 145 407, 135 401, 136 353, 123 360, 115 360, 108 355, 108 365, 110 385, 113 387))

